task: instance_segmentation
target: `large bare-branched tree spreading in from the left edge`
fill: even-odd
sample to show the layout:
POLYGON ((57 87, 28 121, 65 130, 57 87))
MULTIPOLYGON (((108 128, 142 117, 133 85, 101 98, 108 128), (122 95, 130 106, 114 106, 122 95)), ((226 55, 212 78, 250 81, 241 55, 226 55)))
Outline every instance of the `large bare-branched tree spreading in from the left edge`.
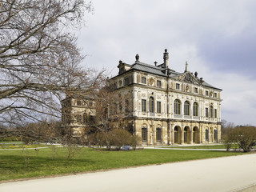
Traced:
POLYGON ((66 95, 95 89, 71 32, 91 9, 84 0, 0 0, 1 123, 60 118, 66 95))

